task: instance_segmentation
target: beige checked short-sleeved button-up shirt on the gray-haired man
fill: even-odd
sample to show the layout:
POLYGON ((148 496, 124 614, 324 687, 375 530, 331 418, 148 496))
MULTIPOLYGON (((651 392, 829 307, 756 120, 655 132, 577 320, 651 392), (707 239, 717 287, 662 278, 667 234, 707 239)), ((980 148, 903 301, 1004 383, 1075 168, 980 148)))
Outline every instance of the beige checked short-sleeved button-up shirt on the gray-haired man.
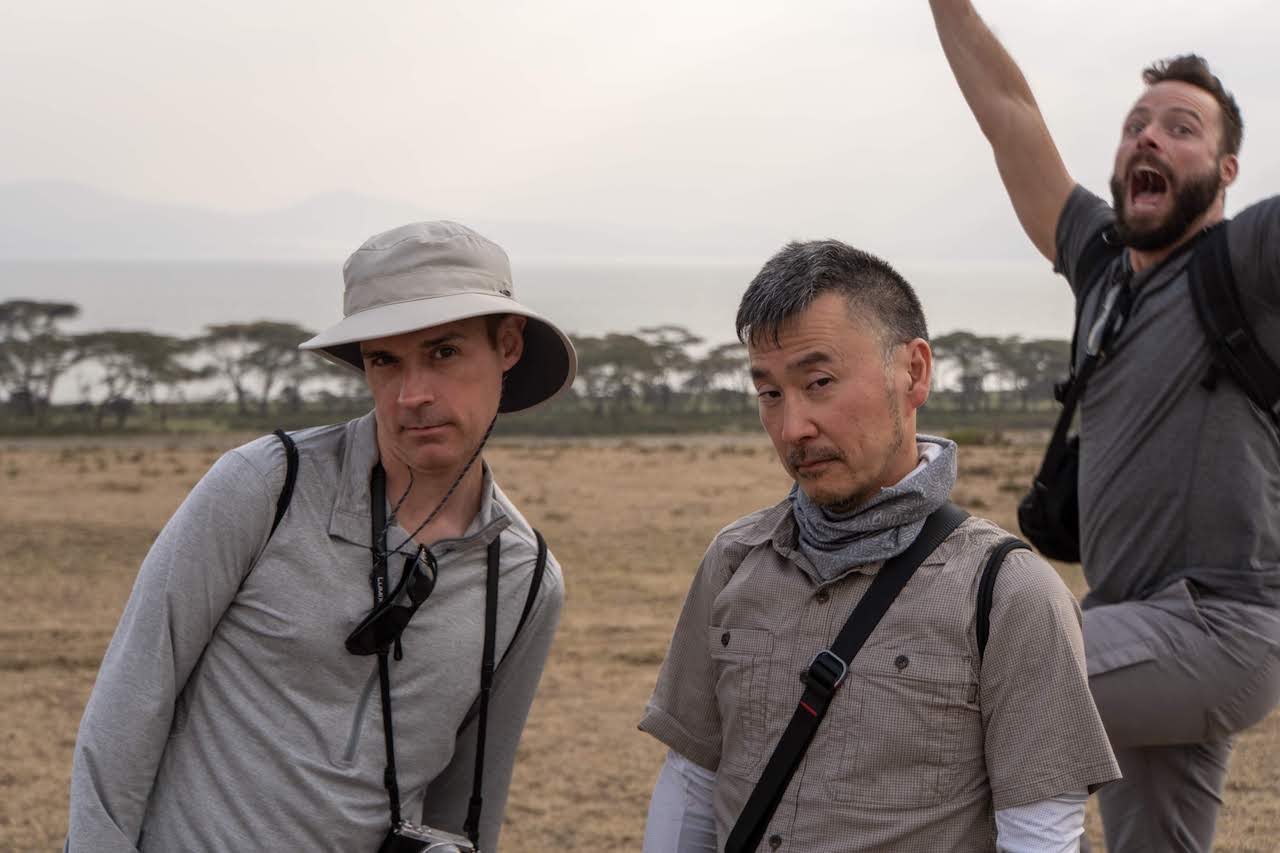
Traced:
MULTIPOLYGON (((1007 534, 969 519, 916 570, 854 658, 762 850, 993 850, 993 808, 1093 790, 1120 772, 1089 695, 1080 611, 1015 551, 979 666, 978 581, 1007 534)), ((879 564, 822 583, 787 501, 703 558, 640 729, 716 771, 723 844, 803 692, 879 564)))

